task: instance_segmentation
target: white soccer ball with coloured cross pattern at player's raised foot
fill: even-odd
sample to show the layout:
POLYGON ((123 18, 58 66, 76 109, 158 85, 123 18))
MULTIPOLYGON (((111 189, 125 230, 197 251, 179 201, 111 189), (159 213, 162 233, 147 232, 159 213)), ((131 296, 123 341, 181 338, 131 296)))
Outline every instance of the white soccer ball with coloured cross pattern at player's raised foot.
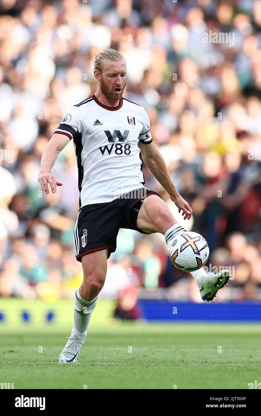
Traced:
POLYGON ((204 266, 209 258, 207 241, 198 233, 182 233, 170 245, 170 260, 183 272, 193 272, 204 266))

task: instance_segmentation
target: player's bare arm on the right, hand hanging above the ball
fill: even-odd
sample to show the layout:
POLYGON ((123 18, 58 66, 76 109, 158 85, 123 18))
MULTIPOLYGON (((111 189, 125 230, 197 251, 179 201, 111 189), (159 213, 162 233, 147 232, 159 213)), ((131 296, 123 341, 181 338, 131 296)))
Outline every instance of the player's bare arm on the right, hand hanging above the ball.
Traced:
POLYGON ((182 215, 185 215, 184 219, 190 219, 192 209, 187 201, 185 201, 185 199, 178 193, 175 185, 172 183, 166 163, 158 149, 155 148, 152 139, 150 143, 141 143, 139 141, 138 146, 145 165, 148 166, 153 176, 170 195, 171 200, 179 208, 179 212, 182 210, 182 215))

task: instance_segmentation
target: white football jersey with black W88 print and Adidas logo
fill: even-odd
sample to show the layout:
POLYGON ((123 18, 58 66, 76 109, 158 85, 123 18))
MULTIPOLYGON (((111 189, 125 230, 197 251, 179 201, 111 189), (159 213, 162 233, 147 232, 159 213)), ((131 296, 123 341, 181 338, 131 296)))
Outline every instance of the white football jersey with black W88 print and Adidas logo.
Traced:
POLYGON ((144 188, 138 142, 152 142, 149 130, 145 109, 123 97, 108 107, 92 95, 69 109, 55 133, 74 141, 80 208, 144 188))

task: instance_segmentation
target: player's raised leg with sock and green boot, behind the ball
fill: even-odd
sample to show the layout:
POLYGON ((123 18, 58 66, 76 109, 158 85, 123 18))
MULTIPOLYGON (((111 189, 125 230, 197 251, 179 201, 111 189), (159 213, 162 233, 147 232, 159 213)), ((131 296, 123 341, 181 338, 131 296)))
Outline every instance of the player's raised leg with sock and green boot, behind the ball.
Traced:
MULTIPOLYGON (((157 195, 150 195, 142 203, 138 218, 137 226, 145 233, 164 234, 167 245, 170 247, 172 241, 184 233, 186 230, 173 217, 167 207, 167 204, 157 195)), ((218 273, 205 272, 203 267, 195 272, 190 272, 197 282, 202 299, 205 302, 216 297, 219 289, 227 285, 229 280, 229 270, 222 270, 218 273)))

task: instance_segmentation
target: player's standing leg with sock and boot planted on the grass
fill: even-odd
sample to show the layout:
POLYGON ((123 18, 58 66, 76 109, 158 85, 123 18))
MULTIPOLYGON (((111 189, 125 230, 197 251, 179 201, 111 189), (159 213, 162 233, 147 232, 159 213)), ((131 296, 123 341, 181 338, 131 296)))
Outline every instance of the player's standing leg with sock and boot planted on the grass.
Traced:
POLYGON ((96 306, 107 271, 108 249, 85 255, 81 260, 84 280, 76 290, 74 298, 74 327, 59 355, 59 363, 78 361, 81 347, 87 336, 91 314, 96 306))

